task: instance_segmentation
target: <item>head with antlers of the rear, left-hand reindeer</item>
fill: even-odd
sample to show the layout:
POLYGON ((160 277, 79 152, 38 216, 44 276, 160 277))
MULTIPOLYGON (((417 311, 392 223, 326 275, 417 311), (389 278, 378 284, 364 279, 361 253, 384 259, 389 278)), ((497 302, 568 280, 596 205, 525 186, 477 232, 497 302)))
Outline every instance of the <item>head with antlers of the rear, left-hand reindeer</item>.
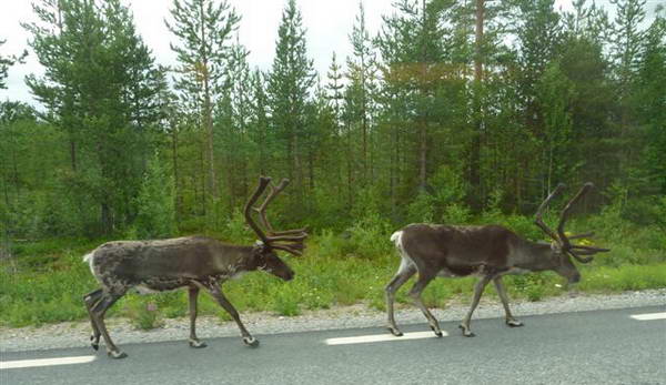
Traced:
POLYGON ((294 272, 278 256, 275 251, 282 250, 296 256, 302 255, 302 251, 305 247, 303 241, 307 237, 305 229, 274 231, 266 217, 266 206, 282 190, 284 190, 284 188, 286 188, 287 184, 289 180, 283 179, 275 188, 271 183, 271 178, 261 176, 259 179, 259 186, 248 201, 248 204, 245 204, 245 221, 259 236, 259 241, 256 241, 254 245, 256 269, 271 273, 284 281, 292 280, 294 277, 294 272), (263 194, 266 188, 270 188, 269 195, 259 207, 254 207, 254 203, 259 200, 261 194, 263 194), (268 235, 252 219, 253 211, 259 214, 260 221, 265 227, 268 235))

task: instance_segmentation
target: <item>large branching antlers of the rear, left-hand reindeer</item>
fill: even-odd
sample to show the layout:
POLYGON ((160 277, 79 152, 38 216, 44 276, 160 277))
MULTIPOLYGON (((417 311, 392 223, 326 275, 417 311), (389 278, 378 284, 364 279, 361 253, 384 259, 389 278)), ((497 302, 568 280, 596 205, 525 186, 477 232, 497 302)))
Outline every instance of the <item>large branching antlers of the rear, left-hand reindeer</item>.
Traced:
POLYGON ((283 251, 289 252, 294 255, 302 255, 303 254, 302 251, 305 247, 305 245, 303 244, 303 241, 307 237, 307 233, 305 232, 305 229, 274 231, 273 226, 271 225, 271 222, 269 222, 269 219, 266 217, 266 212, 265 212, 266 206, 287 185, 289 185, 287 179, 283 179, 280 182, 280 184, 276 188, 274 188, 273 184, 271 183, 271 178, 261 176, 260 181, 259 181, 259 186, 256 188, 256 191, 250 197, 250 200, 248 201, 248 204, 245 205, 245 220, 248 221, 248 224, 252 227, 252 230, 254 230, 256 235, 259 235, 261 241, 266 246, 272 247, 272 249, 283 250, 283 251), (269 195, 266 196, 264 202, 259 207, 254 207, 253 204, 256 202, 259 196, 261 196, 261 194, 266 190, 266 188, 270 188, 269 195), (252 211, 255 211, 256 213, 259 213, 260 221, 261 221, 262 225, 268 230, 269 235, 265 235, 264 232, 260 229, 260 226, 256 225, 256 223, 254 222, 254 220, 252 219, 252 215, 251 215, 252 211), (283 243, 283 242, 285 242, 285 243, 283 243))

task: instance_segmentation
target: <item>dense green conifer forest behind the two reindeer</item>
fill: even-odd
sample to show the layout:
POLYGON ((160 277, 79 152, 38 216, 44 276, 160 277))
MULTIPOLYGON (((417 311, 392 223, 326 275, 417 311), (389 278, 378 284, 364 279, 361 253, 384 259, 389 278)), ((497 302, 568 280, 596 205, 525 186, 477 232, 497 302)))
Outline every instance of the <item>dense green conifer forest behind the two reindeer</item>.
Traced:
MULTIPOLYGON (((361 1, 350 16, 353 53, 332 52, 317 73, 296 0, 285 1, 265 71, 249 62, 242 14, 225 0, 169 2, 174 67, 155 61, 121 0, 36 0, 22 23, 46 69, 26 79, 34 104, 0 102, 3 280, 33 271, 52 280, 103 240, 251 242, 242 209, 270 175, 291 180, 272 221, 312 234, 296 266, 316 275, 313 260, 329 261, 341 276, 372 281, 371 297, 397 265, 389 242, 396 229, 498 223, 545 239, 532 217, 561 182, 565 197, 594 183, 572 226, 594 225, 594 242, 612 246, 604 269, 630 265, 617 273, 628 286, 616 288, 663 287, 666 10, 648 12, 646 0, 605 4, 396 0, 370 31, 361 1)), ((1 51, 0 87, 21 60, 1 51)), ((366 298, 363 287, 330 286, 350 286, 349 301, 319 303, 307 290, 294 301, 366 298)), ((0 287, 0 303, 19 306, 13 288, 0 287)), ((6 315, 11 324, 75 317, 6 315)))

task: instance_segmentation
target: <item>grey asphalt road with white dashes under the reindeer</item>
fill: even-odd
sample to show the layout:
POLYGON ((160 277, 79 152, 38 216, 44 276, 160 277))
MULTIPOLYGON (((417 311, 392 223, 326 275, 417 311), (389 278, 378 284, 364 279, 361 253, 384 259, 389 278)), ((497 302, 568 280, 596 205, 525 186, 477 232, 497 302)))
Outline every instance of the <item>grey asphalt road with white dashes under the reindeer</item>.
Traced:
POLYGON ((500 318, 473 320, 474 338, 463 337, 457 323, 443 323, 448 335, 442 338, 416 333, 430 332, 424 323, 403 325, 415 340, 340 345, 326 341, 387 333, 375 327, 256 335, 258 348, 240 337, 212 338, 202 349, 185 341, 117 341, 129 354, 120 361, 90 348, 2 353, 0 384, 666 384, 666 320, 630 317, 664 312, 659 306, 527 316, 519 328, 500 318), (7 368, 24 359, 81 356, 90 362, 7 368))

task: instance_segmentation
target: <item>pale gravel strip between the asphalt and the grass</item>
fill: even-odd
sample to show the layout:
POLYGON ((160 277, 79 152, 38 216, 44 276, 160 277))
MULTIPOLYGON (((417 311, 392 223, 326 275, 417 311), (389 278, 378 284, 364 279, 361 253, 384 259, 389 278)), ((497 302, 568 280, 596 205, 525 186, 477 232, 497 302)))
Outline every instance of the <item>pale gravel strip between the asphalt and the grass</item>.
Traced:
MULTIPOLYGON (((664 306, 666 288, 625 292, 622 294, 569 294, 551 297, 541 302, 512 302, 516 317, 564 312, 664 306)), ((400 324, 425 323, 421 312, 411 305, 396 306, 396 321, 400 324)), ((435 308, 433 314, 441 322, 460 321, 467 312, 468 304, 452 301, 445 310, 435 308)), ((474 313, 474 318, 496 318, 503 316, 502 304, 497 300, 483 300, 474 313)), ((325 311, 307 311, 294 317, 276 316, 270 313, 241 314, 243 323, 253 335, 280 334, 352 327, 384 327, 385 313, 369 308, 364 304, 334 307, 325 311)), ((107 320, 109 332, 119 345, 131 343, 183 341, 189 336, 189 318, 164 320, 163 327, 152 331, 135 330, 127 318, 107 320)), ((233 322, 221 322, 215 316, 200 316, 196 320, 198 335, 202 340, 212 337, 239 336, 233 322)), ((34 349, 89 346, 90 324, 67 322, 40 327, 0 327, 0 353, 34 349)))

